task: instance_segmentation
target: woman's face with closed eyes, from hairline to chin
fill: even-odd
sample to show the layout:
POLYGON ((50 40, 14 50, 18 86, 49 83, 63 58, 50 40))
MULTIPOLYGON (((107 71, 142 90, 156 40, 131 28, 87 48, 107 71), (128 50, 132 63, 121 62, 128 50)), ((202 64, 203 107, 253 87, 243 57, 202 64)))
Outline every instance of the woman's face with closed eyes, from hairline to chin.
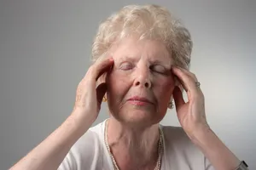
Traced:
POLYGON ((119 122, 130 124, 160 122, 174 88, 173 61, 165 45, 126 37, 111 49, 111 54, 113 70, 106 78, 111 114, 119 122))

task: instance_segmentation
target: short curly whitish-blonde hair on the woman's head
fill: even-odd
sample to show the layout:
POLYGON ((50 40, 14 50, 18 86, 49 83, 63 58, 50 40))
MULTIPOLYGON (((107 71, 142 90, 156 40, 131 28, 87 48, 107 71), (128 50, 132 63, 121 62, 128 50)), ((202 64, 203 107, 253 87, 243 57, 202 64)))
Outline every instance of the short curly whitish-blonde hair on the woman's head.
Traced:
POLYGON ((108 54, 114 42, 131 35, 160 40, 172 54, 174 64, 189 70, 193 42, 181 22, 159 5, 128 5, 99 26, 92 45, 92 60, 108 54))

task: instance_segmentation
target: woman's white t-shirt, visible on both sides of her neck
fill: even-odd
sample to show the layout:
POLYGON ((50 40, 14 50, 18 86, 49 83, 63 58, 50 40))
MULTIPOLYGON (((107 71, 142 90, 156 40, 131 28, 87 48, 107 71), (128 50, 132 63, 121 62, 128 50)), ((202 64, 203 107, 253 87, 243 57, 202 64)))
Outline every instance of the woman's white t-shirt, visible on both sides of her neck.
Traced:
MULTIPOLYGON (((58 170, 113 170, 104 143, 105 122, 84 133, 75 143, 58 170)), ((213 170, 207 158, 190 141, 182 127, 160 125, 164 133, 161 170, 213 170)))

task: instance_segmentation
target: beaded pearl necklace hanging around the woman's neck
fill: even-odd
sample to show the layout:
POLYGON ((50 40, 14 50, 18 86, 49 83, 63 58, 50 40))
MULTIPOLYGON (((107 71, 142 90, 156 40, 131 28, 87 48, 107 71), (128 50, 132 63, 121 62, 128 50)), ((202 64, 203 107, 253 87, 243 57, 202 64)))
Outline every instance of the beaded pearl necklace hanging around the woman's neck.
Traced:
MULTIPOLYGON (((109 153, 109 155, 110 155, 110 157, 112 159, 114 170, 119 170, 119 167, 118 167, 116 161, 114 160, 113 154, 111 153, 111 150, 110 150, 110 147, 109 147, 109 144, 108 144, 107 127, 108 127, 108 120, 106 120, 106 122, 105 122, 104 142, 105 142, 105 145, 106 145, 106 147, 108 149, 108 153, 109 153)), ((164 150, 164 147, 163 147, 163 132, 160 129, 160 140, 159 140, 159 143, 158 143, 158 159, 157 159, 157 162, 156 162, 156 166, 154 167, 154 170, 160 170, 160 167, 161 167, 161 155, 162 155, 162 151, 163 150, 164 150)))

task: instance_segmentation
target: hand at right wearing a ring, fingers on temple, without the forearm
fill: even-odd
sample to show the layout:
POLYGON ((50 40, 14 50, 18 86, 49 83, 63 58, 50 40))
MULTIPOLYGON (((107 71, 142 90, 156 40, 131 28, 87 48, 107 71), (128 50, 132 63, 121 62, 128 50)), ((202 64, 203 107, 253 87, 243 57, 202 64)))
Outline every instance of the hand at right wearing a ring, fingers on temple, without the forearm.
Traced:
POLYGON ((187 92, 189 100, 185 103, 180 88, 174 88, 173 99, 176 105, 177 118, 185 133, 192 137, 196 131, 209 128, 205 113, 204 95, 201 88, 196 85, 198 81, 195 74, 173 65, 172 72, 187 92))

